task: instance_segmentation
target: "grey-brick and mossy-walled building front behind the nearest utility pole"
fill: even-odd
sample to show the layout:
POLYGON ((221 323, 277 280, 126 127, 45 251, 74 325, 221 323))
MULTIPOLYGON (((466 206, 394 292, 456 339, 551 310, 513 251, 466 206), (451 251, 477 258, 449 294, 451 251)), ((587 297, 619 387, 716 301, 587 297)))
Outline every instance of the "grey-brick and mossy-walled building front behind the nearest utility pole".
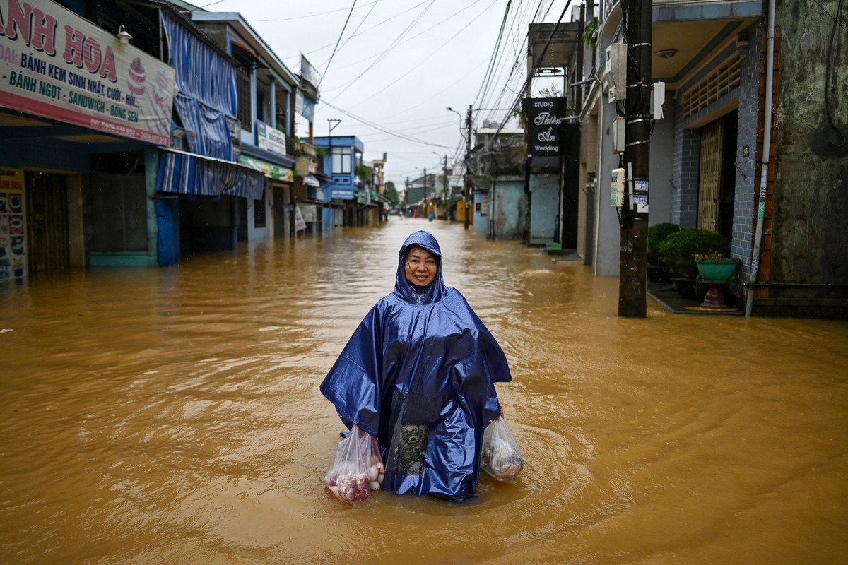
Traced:
MULTIPOLYGON (((845 230, 834 228, 848 214, 839 8, 838 0, 652 3, 649 223, 726 235, 741 262, 734 291, 754 315, 848 314, 845 230)), ((628 38, 620 2, 586 3, 574 15, 575 33, 563 41, 566 96, 581 125, 577 252, 596 274, 617 276, 615 58, 628 53, 628 38)), ((625 206, 638 205, 632 194, 625 206)))

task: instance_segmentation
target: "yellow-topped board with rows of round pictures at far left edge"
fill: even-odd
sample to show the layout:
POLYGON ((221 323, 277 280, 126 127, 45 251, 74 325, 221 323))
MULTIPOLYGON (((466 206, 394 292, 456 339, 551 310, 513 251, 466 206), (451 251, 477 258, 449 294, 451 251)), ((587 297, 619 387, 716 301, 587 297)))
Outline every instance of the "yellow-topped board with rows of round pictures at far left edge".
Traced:
POLYGON ((0 169, 0 280, 26 275, 24 172, 0 169))

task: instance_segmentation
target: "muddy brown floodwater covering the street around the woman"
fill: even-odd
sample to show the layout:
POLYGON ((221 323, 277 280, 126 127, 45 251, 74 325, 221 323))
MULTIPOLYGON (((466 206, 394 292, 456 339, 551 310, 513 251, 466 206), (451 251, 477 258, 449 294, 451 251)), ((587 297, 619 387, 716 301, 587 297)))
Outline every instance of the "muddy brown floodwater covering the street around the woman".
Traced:
POLYGON ((0 562, 843 562, 848 324, 620 319, 617 285, 392 219, 4 286, 0 562), (463 505, 349 507, 318 385, 421 228, 510 359, 527 465, 463 505))

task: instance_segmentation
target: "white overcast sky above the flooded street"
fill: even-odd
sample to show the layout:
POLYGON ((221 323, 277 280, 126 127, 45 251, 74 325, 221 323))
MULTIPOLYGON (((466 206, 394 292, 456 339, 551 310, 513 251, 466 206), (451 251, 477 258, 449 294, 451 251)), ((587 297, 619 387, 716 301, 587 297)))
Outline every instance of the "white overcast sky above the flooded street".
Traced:
MULTIPOLYGON (((294 74, 303 53, 322 76, 315 136, 327 135, 328 119, 341 119, 332 135, 357 136, 366 161, 388 153, 386 180, 402 189, 422 169, 441 169, 440 156, 450 166, 464 154, 460 116, 445 108, 463 119, 469 105, 482 108, 475 127, 505 119, 498 108, 512 107, 526 80, 527 26, 555 22, 567 0, 192 3, 242 14, 294 74)), ((549 83, 534 81, 533 93, 549 83)), ((302 119, 297 134, 308 135, 302 119)))

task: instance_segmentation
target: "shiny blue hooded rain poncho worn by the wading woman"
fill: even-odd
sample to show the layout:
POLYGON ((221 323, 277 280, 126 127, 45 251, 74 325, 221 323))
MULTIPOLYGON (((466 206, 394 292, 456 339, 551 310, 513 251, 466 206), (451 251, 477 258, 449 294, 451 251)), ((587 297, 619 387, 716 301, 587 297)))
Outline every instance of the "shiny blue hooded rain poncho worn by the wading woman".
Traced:
POLYGON ((400 248, 394 291, 354 331, 321 393, 348 428, 377 437, 384 490, 466 501, 477 486, 483 430, 500 412, 494 383, 511 379, 494 336, 444 285, 438 242, 416 231, 400 248), (426 290, 406 280, 413 245, 438 258, 426 290))

